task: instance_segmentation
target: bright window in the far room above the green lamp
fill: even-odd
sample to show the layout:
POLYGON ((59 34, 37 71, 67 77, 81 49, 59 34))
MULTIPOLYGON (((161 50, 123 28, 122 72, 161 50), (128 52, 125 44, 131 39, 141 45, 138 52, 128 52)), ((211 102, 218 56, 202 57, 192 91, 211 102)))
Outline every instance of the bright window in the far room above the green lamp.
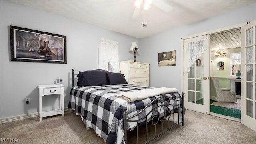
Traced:
POLYGON ((235 77, 241 66, 241 52, 230 54, 230 76, 235 77))

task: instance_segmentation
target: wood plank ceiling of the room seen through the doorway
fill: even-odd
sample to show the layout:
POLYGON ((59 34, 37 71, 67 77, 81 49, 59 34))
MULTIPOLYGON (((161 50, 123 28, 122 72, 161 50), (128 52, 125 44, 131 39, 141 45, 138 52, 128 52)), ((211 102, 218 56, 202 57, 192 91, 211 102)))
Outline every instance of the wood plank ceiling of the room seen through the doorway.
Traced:
POLYGON ((241 29, 210 35, 210 50, 241 47, 241 29))

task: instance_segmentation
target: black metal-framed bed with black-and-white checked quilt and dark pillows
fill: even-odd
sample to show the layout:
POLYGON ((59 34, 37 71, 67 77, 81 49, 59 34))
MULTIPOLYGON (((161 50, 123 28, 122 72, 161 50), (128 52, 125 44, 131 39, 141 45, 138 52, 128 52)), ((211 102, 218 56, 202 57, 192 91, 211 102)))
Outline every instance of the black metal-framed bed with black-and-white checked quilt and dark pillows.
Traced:
MULTIPOLYGON (((72 86, 68 108, 76 112, 83 123, 103 138, 106 144, 127 144, 127 131, 134 129, 137 130, 138 143, 138 126, 142 125, 156 126, 164 120, 172 121, 173 125, 170 128, 168 125, 168 130, 162 134, 180 124, 184 126, 184 92, 182 96, 174 91, 145 99, 136 97, 127 100, 122 96, 152 92, 156 88, 128 84, 123 74, 105 70, 74 74, 72 69, 72 86), (76 86, 75 76, 78 78, 76 86)), ((148 131, 146 135, 146 143, 161 136, 155 135, 154 139, 148 140, 148 131)))

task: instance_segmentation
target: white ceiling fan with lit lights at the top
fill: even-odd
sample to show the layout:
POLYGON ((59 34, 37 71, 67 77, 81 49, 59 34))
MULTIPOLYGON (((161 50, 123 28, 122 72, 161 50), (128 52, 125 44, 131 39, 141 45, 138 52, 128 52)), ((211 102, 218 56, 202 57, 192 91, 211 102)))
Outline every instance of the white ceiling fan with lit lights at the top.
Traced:
POLYGON ((161 10, 165 12, 172 11, 173 7, 166 4, 162 0, 136 0, 134 2, 134 12, 132 14, 132 18, 136 19, 140 15, 140 13, 143 13, 144 10, 148 10, 150 8, 150 5, 154 4, 154 6, 160 8, 161 10))

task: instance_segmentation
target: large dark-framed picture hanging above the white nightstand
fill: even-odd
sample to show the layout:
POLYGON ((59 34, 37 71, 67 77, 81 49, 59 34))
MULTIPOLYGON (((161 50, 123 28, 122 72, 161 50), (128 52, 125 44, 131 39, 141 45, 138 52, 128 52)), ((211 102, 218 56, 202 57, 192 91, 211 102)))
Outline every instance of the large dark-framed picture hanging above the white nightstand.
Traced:
POLYGON ((66 36, 10 26, 11 61, 67 63, 66 36))

